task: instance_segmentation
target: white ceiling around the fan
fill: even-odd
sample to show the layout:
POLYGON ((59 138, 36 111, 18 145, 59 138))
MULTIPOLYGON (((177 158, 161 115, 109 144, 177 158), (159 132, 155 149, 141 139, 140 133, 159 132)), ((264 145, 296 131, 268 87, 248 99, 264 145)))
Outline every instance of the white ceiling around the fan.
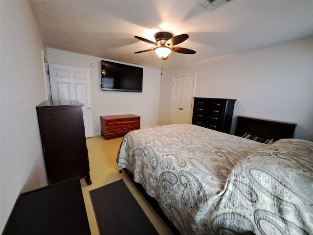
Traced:
POLYGON ((160 69, 158 31, 189 38, 163 68, 313 36, 313 0, 231 0, 208 11, 199 0, 34 0, 46 47, 160 69))

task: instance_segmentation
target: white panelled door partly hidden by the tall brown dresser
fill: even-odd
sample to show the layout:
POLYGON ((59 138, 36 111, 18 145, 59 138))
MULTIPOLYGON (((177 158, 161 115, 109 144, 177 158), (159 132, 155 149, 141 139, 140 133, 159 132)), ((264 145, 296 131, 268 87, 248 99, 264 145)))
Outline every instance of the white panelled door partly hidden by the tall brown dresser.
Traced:
POLYGON ((85 135, 92 137, 89 69, 49 64, 49 73, 52 100, 78 100, 83 103, 85 135))

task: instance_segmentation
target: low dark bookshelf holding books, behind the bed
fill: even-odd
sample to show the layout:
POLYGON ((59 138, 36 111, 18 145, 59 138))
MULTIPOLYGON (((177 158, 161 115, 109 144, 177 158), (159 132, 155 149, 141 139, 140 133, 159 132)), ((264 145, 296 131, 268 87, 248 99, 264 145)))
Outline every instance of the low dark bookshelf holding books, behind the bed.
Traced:
POLYGON ((235 135, 249 140, 271 144, 293 138, 296 123, 238 116, 235 135))

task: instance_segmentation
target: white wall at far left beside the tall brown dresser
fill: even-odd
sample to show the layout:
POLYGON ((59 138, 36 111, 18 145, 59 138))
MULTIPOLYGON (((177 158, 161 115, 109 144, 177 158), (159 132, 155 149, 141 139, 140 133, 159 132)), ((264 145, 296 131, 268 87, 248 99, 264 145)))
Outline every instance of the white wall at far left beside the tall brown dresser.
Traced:
POLYGON ((45 95, 45 45, 28 1, 0 4, 2 233, 18 195, 47 181, 35 108, 45 95))

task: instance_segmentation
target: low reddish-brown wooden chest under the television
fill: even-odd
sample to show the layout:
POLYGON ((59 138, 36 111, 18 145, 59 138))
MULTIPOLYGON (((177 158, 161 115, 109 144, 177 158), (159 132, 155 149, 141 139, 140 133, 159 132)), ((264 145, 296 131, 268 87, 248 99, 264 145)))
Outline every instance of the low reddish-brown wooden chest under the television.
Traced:
POLYGON ((140 129, 140 117, 134 114, 100 116, 101 135, 106 140, 140 129))

